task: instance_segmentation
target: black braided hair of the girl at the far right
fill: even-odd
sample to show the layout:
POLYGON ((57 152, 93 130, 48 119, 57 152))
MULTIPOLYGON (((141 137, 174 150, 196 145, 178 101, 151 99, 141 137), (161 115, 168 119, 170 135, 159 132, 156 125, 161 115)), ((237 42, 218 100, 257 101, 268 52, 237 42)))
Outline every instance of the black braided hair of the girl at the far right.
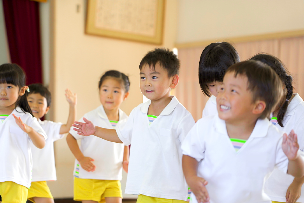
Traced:
POLYGON ((292 77, 289 74, 289 72, 286 69, 283 62, 273 55, 257 54, 255 56, 253 56, 251 59, 261 61, 261 62, 264 62, 267 65, 269 65, 272 69, 274 69, 274 71, 278 74, 278 76, 280 77, 280 79, 286 86, 286 89, 287 89, 286 100, 283 103, 283 105, 280 106, 280 109, 278 111, 278 116, 277 116, 278 124, 281 127, 284 127, 283 120, 284 120, 284 116, 285 116, 285 113, 287 110, 288 100, 292 97, 292 93, 293 93, 292 77))

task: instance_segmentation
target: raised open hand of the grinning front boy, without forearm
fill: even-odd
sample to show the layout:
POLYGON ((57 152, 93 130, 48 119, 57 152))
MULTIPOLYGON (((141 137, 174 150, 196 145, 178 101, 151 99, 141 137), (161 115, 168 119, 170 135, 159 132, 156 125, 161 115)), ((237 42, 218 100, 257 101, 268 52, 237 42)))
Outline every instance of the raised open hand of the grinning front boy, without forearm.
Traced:
POLYGON ((299 144, 297 134, 292 130, 288 137, 283 135, 282 149, 289 160, 295 160, 298 156, 299 144))

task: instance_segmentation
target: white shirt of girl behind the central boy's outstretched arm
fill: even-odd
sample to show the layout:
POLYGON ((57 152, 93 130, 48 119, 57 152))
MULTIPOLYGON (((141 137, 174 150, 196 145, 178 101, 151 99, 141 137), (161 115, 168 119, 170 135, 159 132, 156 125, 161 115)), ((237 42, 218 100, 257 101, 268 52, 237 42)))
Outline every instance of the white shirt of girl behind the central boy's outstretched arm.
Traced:
MULTIPOLYGON (((91 121, 95 126, 113 129, 103 106, 86 113, 83 117, 91 121)), ((83 121, 83 117, 79 120, 83 121)), ((119 109, 119 121, 117 126, 126 122, 128 116, 119 109)), ((117 127, 116 126, 116 127, 117 127)), ((76 140, 81 139, 80 151, 84 156, 93 158, 93 164, 96 166, 95 171, 88 172, 82 169, 78 160, 75 160, 74 176, 83 179, 97 180, 121 180, 122 178, 122 162, 124 158, 124 144, 114 143, 103 140, 94 135, 82 136, 73 130, 73 126, 69 131, 76 140)))

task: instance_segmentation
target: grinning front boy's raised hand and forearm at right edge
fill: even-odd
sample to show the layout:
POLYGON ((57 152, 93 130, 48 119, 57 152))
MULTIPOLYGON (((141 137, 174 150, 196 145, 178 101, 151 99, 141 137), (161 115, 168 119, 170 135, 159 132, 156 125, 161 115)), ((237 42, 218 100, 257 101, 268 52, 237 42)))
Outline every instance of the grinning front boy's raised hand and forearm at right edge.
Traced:
POLYGON ((303 176, 303 158, 299 155, 299 144, 297 134, 292 130, 289 135, 283 135, 282 149, 288 158, 287 173, 294 177, 303 176))

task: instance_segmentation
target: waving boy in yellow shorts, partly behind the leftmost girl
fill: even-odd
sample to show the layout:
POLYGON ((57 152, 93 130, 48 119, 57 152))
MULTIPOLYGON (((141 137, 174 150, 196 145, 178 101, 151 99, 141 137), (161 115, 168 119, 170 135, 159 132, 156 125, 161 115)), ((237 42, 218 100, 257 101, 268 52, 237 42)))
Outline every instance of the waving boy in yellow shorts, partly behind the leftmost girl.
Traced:
POLYGON ((41 121, 40 118, 47 114, 50 109, 51 92, 40 83, 31 84, 29 88, 30 93, 27 96, 27 101, 33 115, 46 132, 48 138, 43 149, 38 149, 31 144, 33 177, 27 198, 36 203, 53 203, 53 196, 46 181, 56 180, 54 141, 62 139, 64 134, 70 130, 72 123, 74 123, 76 119, 77 97, 69 89, 65 91, 65 96, 70 104, 67 124, 55 123, 48 120, 41 121))

